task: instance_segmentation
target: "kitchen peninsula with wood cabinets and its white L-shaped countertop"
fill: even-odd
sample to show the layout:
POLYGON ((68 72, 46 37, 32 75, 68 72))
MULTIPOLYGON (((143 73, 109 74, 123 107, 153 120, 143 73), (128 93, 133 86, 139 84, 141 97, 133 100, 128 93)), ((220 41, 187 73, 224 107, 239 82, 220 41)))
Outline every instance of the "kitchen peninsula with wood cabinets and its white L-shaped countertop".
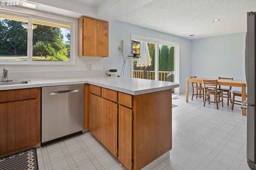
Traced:
POLYGON ((89 129, 127 169, 140 170, 169 158, 172 88, 178 83, 80 77, 30 80, 29 84, 0 86, 0 91, 68 84, 84 84, 84 129, 89 129))

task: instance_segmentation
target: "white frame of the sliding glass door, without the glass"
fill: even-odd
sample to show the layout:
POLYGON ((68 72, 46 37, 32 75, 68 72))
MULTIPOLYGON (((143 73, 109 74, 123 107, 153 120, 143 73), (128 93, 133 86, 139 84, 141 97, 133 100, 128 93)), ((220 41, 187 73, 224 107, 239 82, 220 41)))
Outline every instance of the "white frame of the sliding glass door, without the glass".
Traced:
MULTIPOLYGON (((175 72, 175 82, 179 83, 180 80, 179 80, 179 64, 180 64, 180 43, 175 43, 175 42, 172 42, 172 41, 165 41, 165 40, 161 40, 161 39, 155 39, 155 38, 151 38, 151 37, 144 37, 144 36, 141 36, 141 35, 135 35, 135 34, 131 34, 131 39, 130 39, 130 42, 132 40, 135 40, 135 41, 144 41, 144 42, 147 42, 147 43, 152 43, 152 44, 155 44, 155 45, 167 45, 167 46, 172 46, 174 47, 174 72, 175 72)), ((130 49, 132 49, 132 47, 130 46, 130 49)), ((155 56, 158 56, 159 54, 159 48, 156 48, 155 50, 155 56)), ((158 57, 155 57, 155 65, 159 65, 158 63, 158 57)), ((130 70, 130 75, 131 77, 133 77, 133 62, 131 62, 131 70, 130 70)), ((155 68, 155 80, 158 80, 158 67, 155 68)), ((180 94, 180 88, 174 88, 174 92, 175 94, 180 94)))

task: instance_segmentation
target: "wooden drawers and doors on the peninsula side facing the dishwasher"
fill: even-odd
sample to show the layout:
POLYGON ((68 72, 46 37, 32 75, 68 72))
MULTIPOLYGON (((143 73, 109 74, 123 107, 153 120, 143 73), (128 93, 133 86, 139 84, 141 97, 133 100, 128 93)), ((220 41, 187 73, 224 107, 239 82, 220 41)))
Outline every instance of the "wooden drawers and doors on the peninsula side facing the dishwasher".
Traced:
POLYGON ((126 168, 132 169, 132 109, 125 107, 132 107, 132 98, 120 94, 120 103, 117 99, 118 92, 90 85, 89 130, 126 168))

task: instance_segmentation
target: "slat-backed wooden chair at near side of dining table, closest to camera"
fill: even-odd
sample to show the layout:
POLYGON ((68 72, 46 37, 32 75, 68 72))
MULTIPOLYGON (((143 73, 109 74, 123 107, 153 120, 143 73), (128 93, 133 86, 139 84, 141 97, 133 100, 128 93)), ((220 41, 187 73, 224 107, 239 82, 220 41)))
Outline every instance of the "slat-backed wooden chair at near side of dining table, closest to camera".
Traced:
POLYGON ((219 109, 218 103, 222 102, 223 107, 223 91, 218 89, 218 80, 206 80, 203 79, 204 86, 204 106, 206 102, 216 103, 217 109, 219 109), (210 100, 210 95, 214 95, 214 101, 210 100), (218 100, 218 97, 221 97, 221 100, 218 100))

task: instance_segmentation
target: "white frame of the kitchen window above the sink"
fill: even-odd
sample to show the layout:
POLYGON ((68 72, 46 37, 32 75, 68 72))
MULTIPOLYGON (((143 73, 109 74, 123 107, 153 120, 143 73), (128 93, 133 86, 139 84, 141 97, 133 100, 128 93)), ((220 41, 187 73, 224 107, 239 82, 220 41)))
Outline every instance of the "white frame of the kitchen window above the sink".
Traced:
POLYGON ((0 14, 6 16, 20 17, 28 19, 28 26, 32 27, 32 20, 49 21, 53 23, 59 23, 64 25, 70 25, 70 61, 32 61, 32 37, 33 33, 28 29, 28 61, 0 61, 0 66, 76 66, 75 64, 75 22, 67 20, 59 20, 56 18, 41 17, 30 14, 23 14, 20 12, 12 12, 0 9, 0 14))

